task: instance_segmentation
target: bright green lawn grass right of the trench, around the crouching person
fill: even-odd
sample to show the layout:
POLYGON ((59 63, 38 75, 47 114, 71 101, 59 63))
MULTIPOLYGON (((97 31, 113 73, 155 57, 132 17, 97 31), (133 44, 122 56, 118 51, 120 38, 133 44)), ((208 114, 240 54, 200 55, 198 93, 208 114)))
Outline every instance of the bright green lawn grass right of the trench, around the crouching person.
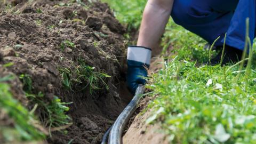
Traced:
MULTIPOLYGON (((115 2, 110 3, 114 9, 119 6, 115 2)), ((142 9, 117 8, 117 15, 135 7, 142 9)), ((160 122, 172 143, 255 143, 254 66, 202 66, 213 54, 203 49, 205 44, 170 20, 162 39, 163 54, 170 45, 176 54, 149 78, 150 95, 158 97, 148 106, 154 112, 146 123, 160 122)))

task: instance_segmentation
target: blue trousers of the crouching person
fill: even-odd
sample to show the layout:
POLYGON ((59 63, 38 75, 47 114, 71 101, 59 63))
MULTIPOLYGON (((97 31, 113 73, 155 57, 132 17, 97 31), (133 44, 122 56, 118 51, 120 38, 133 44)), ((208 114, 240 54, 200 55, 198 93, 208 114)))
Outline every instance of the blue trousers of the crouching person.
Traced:
POLYGON ((221 36, 216 46, 226 44, 244 49, 246 18, 250 18, 250 39, 255 37, 255 0, 175 0, 171 16, 175 23, 207 42, 221 36))

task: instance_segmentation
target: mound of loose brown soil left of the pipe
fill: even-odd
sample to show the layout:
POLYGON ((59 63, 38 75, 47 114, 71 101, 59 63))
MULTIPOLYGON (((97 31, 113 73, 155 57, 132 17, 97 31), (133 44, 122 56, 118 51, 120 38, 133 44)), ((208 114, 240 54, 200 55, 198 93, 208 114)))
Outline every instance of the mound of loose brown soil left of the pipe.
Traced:
MULTIPOLYGON (((121 113, 131 95, 123 92, 125 28, 114 18, 107 4, 91 1, 37 0, 9 1, 14 7, 0 8, 0 77, 14 74, 8 81, 13 97, 32 109, 20 75, 32 79, 31 93, 42 92, 45 102, 57 95, 69 105, 73 125, 64 132, 52 132, 49 143, 99 143, 103 133, 121 113), (79 2, 79 3, 78 3, 79 2), (91 92, 88 81, 63 86, 78 79, 82 63, 95 73, 111 77, 97 81, 91 92), (11 66, 4 67, 12 63, 11 66), (106 84, 104 84, 106 83, 106 84), (106 86, 107 85, 107 86, 106 86), (84 88, 85 87, 85 88, 84 88), (122 95, 119 96, 119 91, 122 95), (120 97, 125 98, 120 98, 120 97)), ((42 111, 36 111, 42 115, 42 111)), ((41 117, 40 117, 41 118, 41 117)), ((43 121, 43 119, 41 119, 43 121)))

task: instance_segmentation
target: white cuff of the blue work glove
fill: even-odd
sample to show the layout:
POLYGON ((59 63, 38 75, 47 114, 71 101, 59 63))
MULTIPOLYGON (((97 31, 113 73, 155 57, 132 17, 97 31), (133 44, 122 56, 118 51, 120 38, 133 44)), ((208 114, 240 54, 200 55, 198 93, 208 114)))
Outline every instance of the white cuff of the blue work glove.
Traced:
POLYGON ((128 46, 127 60, 141 62, 149 66, 151 60, 151 49, 143 46, 128 46))

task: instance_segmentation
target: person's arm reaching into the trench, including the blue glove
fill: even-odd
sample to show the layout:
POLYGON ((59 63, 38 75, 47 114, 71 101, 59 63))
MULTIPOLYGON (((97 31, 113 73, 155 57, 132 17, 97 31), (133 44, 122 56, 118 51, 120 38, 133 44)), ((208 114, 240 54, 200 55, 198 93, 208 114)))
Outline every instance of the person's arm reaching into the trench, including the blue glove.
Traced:
POLYGON ((140 27, 137 46, 127 50, 127 86, 134 94, 139 84, 145 84, 150 65, 151 49, 163 34, 174 0, 148 0, 140 27))

